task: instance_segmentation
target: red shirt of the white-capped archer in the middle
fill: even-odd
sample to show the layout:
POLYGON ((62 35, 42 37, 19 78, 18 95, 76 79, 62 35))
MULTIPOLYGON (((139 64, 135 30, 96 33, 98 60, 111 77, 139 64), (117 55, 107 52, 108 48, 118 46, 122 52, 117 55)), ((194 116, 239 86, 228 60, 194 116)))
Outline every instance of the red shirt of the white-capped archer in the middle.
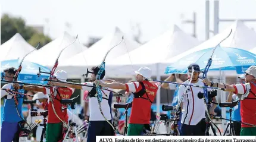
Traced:
MULTIPOLYGON (((151 102, 154 102, 155 96, 157 95, 157 90, 160 89, 160 83, 152 84, 149 81, 142 81, 145 86, 146 92, 151 102)), ((142 89, 139 82, 132 82, 126 84, 126 91, 137 93, 142 89)), ((142 97, 147 97, 146 93, 142 97)), ((133 98, 132 111, 130 114, 129 123, 130 124, 149 124, 151 118, 151 105, 149 100, 142 98, 133 98)))

